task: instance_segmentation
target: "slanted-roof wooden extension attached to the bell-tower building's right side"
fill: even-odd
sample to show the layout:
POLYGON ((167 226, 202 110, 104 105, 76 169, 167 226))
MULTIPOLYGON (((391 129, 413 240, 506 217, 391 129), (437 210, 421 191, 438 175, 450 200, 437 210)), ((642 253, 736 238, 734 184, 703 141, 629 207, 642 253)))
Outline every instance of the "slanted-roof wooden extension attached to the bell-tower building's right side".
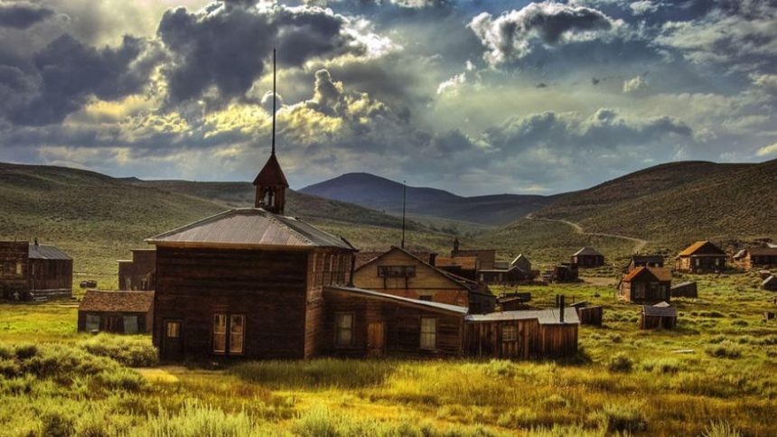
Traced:
POLYGON ((323 296, 323 355, 462 355, 465 307, 343 286, 324 287, 323 296))

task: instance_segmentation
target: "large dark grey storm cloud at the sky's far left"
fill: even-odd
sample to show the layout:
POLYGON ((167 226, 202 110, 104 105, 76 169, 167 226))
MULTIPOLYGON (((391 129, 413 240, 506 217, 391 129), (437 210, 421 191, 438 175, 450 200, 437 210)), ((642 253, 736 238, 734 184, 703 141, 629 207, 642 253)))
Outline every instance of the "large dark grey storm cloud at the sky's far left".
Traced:
POLYGON ((116 100, 135 94, 154 65, 138 62, 146 47, 144 40, 126 36, 117 48, 98 50, 64 34, 33 56, 33 71, 25 78, 13 67, 0 75, 0 89, 21 80, 26 91, 16 93, 26 101, 8 107, 6 116, 18 125, 59 123, 92 96, 116 100))

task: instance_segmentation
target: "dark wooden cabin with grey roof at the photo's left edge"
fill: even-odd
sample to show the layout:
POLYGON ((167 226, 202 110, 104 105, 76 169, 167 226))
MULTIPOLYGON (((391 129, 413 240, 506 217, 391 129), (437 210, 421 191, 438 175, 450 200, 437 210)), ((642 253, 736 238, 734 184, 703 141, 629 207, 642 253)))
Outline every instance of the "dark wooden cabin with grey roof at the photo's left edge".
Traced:
POLYGON ((73 259, 56 246, 0 242, 0 297, 14 301, 70 299, 73 259))

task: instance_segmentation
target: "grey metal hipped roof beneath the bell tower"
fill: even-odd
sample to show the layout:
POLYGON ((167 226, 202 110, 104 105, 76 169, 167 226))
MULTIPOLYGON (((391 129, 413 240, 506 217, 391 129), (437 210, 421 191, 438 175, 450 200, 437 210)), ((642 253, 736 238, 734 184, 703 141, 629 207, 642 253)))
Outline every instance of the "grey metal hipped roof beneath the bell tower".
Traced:
POLYGON ((261 208, 229 209, 145 241, 156 245, 338 247, 354 250, 342 237, 335 237, 301 219, 273 214, 261 208))

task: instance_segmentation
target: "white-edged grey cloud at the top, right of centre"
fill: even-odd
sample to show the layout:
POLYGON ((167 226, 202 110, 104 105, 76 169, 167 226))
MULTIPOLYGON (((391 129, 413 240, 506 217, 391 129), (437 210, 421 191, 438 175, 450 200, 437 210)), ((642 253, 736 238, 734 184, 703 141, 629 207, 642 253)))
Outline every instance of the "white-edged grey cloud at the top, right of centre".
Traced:
POLYGON ((548 46, 585 41, 613 25, 610 17, 595 9, 551 2, 532 3, 497 18, 482 13, 468 24, 489 49, 485 57, 492 64, 524 58, 536 41, 548 46))

